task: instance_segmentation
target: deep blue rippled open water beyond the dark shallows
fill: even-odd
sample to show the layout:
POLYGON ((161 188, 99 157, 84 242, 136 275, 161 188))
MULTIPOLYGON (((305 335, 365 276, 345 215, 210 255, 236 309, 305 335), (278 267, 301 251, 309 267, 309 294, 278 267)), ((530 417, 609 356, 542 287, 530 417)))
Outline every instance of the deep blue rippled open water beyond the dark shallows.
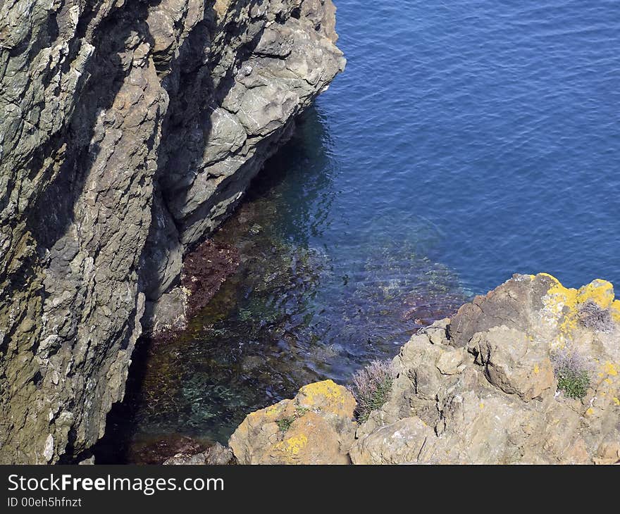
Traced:
POLYGON ((331 230, 421 240, 476 294, 620 286, 620 3, 337 1, 331 230))

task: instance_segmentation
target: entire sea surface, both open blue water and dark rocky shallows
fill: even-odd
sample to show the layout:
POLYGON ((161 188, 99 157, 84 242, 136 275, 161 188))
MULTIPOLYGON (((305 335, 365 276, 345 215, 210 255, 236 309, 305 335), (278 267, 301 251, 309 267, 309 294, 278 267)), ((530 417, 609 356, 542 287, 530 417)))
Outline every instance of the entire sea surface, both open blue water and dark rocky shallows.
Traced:
POLYGON ((514 272, 620 284, 620 4, 337 6, 347 70, 216 235, 240 269, 140 350, 110 423, 134 446, 225 441, 514 272))

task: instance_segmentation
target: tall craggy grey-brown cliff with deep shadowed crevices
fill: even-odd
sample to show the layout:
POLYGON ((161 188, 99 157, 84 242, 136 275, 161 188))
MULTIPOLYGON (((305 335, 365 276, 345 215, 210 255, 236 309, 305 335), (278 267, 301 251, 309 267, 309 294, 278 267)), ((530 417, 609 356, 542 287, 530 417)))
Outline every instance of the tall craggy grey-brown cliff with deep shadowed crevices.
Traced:
POLYGON ((0 0, 0 462, 88 449, 181 258, 342 70, 331 0, 0 0), (146 320, 149 322, 149 320, 146 320))

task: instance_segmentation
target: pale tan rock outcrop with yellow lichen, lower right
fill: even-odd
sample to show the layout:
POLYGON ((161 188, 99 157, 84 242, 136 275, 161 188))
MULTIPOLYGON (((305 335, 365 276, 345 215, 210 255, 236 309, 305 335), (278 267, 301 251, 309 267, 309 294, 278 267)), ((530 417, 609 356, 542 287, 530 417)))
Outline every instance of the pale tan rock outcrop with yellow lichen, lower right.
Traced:
MULTIPOLYGON (((342 453, 354 464, 620 462, 620 300, 609 282, 567 289, 551 275, 515 275, 416 334, 393 365, 390 400, 364 424, 343 416, 328 438, 294 427, 303 442, 294 462, 339 463, 342 453), (557 390, 554 356, 567 349, 590 374, 581 399, 557 390), (335 440, 350 446, 334 453, 335 440)), ((278 417, 281 405, 237 429, 230 446, 241 462, 263 462, 262 448, 289 437, 271 440, 269 409, 278 417)))

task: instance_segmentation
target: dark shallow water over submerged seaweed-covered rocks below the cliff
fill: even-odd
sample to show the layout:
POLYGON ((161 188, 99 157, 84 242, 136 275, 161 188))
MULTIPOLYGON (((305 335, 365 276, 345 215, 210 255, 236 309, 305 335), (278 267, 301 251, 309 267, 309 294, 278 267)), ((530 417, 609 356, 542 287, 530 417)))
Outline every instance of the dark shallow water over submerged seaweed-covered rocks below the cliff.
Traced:
POLYGON ((330 139, 314 108, 298 125, 211 238, 236 249, 232 275, 187 330, 138 344, 98 462, 157 463, 225 444, 248 413, 309 382, 347 384, 468 298, 419 234, 421 245, 380 231, 366 242, 325 238, 337 194, 330 139))

